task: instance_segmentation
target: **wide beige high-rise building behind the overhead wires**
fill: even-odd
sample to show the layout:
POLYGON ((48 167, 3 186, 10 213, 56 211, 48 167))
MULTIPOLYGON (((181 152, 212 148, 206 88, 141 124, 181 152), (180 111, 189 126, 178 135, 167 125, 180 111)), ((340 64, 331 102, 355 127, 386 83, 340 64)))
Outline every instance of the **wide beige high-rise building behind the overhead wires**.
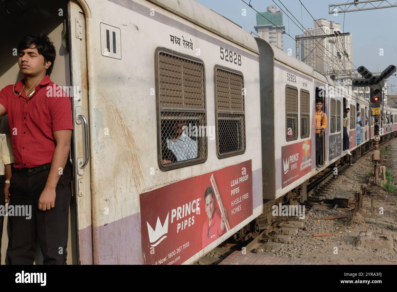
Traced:
MULTIPOLYGON (((297 37, 332 35, 341 32, 339 23, 327 19, 317 19, 314 27, 297 37)), ((319 72, 333 73, 335 70, 352 70, 352 36, 324 37, 296 42, 297 58, 319 72), (317 55, 317 56, 316 56, 317 55)))

